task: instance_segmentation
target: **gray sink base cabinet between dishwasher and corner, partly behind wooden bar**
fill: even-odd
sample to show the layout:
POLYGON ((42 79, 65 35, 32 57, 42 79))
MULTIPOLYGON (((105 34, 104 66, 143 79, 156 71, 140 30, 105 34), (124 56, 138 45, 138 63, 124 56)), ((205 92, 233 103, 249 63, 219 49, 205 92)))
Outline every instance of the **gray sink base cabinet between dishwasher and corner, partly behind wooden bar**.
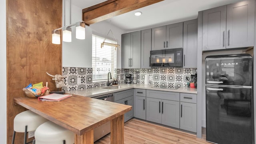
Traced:
POLYGON ((134 95, 133 89, 114 93, 114 102, 132 106, 132 110, 124 114, 124 122, 134 117, 134 95))

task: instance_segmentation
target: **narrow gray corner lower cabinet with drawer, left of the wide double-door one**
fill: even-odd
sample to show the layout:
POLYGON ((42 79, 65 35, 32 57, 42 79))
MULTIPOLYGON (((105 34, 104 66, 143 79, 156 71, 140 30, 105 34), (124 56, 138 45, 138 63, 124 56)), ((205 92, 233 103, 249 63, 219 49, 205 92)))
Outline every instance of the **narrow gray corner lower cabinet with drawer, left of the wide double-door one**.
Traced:
POLYGON ((134 117, 146 120, 146 90, 135 89, 134 117))

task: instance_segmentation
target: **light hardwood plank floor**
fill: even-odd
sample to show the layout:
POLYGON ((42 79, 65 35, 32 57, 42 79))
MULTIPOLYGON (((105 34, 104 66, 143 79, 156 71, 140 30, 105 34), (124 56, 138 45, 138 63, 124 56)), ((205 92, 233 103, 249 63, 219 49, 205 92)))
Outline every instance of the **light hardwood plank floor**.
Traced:
MULTIPOLYGON (((204 131, 204 130, 203 130, 204 131)), ((204 132, 205 133, 205 132, 204 132)), ((110 144, 110 134, 94 144, 110 144)), ((133 118, 124 124, 124 144, 211 144, 196 135, 133 118)))

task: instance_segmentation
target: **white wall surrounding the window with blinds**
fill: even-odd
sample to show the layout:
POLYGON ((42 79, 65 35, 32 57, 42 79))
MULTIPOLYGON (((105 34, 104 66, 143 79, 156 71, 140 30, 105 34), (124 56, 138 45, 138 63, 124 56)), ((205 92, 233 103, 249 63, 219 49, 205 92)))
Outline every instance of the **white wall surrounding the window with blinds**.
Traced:
MULTIPOLYGON (((66 18, 65 23, 69 25, 69 1, 66 0, 66 18)), ((64 11, 63 11, 64 12, 64 11)), ((64 16, 63 16, 64 20, 64 16)), ((72 5, 71 24, 82 20, 82 9, 72 5)), ((117 43, 121 45, 121 34, 125 31, 117 28, 107 22, 98 22, 86 26, 85 40, 78 40, 75 36, 76 28, 72 26, 72 42, 62 42, 62 66, 63 67, 92 67, 92 34, 105 37, 109 30, 112 30, 117 43)), ((109 34, 108 38, 112 39, 109 34)), ((117 68, 121 68, 121 48, 117 50, 117 68)))

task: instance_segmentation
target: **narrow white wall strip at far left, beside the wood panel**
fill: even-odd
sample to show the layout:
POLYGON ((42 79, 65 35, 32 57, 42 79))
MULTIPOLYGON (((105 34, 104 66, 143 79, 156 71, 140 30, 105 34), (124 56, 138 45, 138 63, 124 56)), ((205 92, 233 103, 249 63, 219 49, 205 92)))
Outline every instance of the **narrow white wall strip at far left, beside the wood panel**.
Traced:
POLYGON ((6 144, 7 140, 7 123, 6 123, 6 0, 0 0, 0 92, 1 92, 1 101, 0 101, 0 144, 6 144))

